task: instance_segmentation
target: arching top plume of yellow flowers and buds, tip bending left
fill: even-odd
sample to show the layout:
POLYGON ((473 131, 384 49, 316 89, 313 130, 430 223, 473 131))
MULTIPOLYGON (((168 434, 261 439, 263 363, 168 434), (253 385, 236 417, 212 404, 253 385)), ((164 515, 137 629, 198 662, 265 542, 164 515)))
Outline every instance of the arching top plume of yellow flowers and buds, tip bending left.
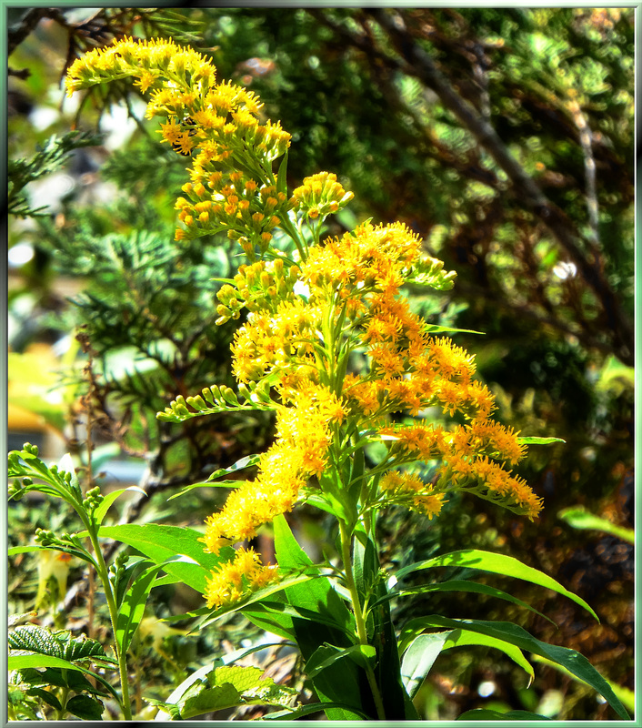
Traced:
POLYGON ((276 177, 260 177, 283 155, 290 135, 280 124, 259 123, 258 97, 242 86, 216 84, 216 69, 191 48, 173 41, 134 41, 96 48, 77 59, 66 77, 67 92, 117 78, 134 77, 145 93, 151 90, 146 116, 166 117, 160 135, 178 154, 192 157, 191 181, 176 203, 185 227, 176 239, 197 238, 226 230, 253 258, 263 252, 270 232, 290 202, 276 191, 276 177), (258 162, 258 164, 257 164, 258 162), (239 168, 254 169, 242 173, 239 168))

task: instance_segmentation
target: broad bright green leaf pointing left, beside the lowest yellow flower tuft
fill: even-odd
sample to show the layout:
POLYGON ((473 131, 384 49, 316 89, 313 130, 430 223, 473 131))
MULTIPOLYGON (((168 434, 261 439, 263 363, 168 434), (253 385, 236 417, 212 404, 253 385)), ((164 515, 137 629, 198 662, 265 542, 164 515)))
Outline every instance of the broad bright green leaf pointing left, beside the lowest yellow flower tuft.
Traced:
POLYGON ((164 569, 167 573, 177 576, 187 586, 191 586, 201 594, 206 591, 206 576, 210 571, 234 556, 231 547, 224 547, 218 555, 206 553, 201 541, 202 533, 178 526, 155 523, 102 526, 98 536, 126 543, 156 564, 165 564, 164 569), (196 563, 172 562, 177 554, 188 556, 196 563))

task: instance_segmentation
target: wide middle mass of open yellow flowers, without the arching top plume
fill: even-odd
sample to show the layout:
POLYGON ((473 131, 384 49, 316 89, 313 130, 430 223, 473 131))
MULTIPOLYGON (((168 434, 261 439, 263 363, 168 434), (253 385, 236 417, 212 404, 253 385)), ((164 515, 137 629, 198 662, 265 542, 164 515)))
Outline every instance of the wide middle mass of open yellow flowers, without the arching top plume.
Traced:
POLYGON ((417 236, 404 225, 366 224, 311 248, 299 267, 261 261, 239 270, 236 288, 222 289, 219 311, 226 316, 251 307, 232 346, 236 378, 269 380, 282 406, 276 443, 261 459, 257 479, 233 492, 208 521, 209 550, 248 538, 293 508, 307 480, 326 470, 333 431, 345 420, 357 430, 380 422, 379 435, 392 443, 388 460, 396 465, 442 463, 434 486, 388 472, 377 503, 398 502, 431 517, 448 490, 470 490, 530 518, 537 514, 532 491, 495 461, 515 464, 524 448, 512 430, 489 419, 493 398, 473 379, 473 358, 450 339, 431 336, 399 295, 424 263, 417 236), (342 347, 344 357, 365 349, 369 370, 344 374, 337 365, 342 347), (385 425, 390 412, 416 414, 434 405, 464 413, 469 424, 451 431, 385 425))

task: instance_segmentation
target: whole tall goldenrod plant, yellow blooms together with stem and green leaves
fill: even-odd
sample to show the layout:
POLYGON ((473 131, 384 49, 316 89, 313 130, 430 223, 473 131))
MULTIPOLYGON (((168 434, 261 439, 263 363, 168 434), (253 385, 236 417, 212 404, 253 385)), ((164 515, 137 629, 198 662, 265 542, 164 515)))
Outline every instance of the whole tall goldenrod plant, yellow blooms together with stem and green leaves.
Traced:
MULTIPOLYGON (((156 527, 153 541, 152 524, 95 531, 135 545, 154 564, 139 577, 145 579, 136 596, 125 600, 130 617, 121 632, 131 640, 145 596, 164 569, 203 593, 206 606, 192 612, 200 617, 200 629, 242 612, 296 644, 318 699, 300 705, 286 689, 258 681, 256 668, 215 662, 159 703, 163 711, 186 719, 222 705, 263 703, 276 706, 269 718, 324 711, 330 720, 418 720, 413 699, 439 653, 484 645, 522 667, 529 683, 534 671, 525 652, 563 666, 627 719, 586 658, 541 642, 516 624, 429 611, 393 623, 392 600, 435 591, 481 593, 532 609, 476 581, 404 585, 410 575, 438 567, 531 581, 597 618, 546 574, 466 544, 397 571, 379 561, 377 517, 391 505, 423 514, 426 527, 455 493, 475 495, 531 521, 543 507, 513 469, 528 444, 558 440, 520 437, 494 420, 494 398, 475 379, 474 357, 447 336, 457 330, 431 325, 406 298, 409 284, 452 288, 455 273, 426 256, 420 236, 402 223, 366 221, 342 236, 327 236, 326 218, 346 207, 352 193, 331 172, 306 177, 289 193, 290 134, 261 116, 255 94, 217 80, 205 56, 171 40, 125 38, 76 60, 66 85, 71 95, 124 78, 149 96, 146 114, 161 119, 163 141, 189 160, 184 196, 176 200, 176 240, 198 245, 198 238, 223 232, 247 258, 234 278, 218 280, 218 322, 240 324, 231 347, 236 391, 213 383, 192 396, 177 396, 157 417, 184 422, 266 410, 276 417, 276 437, 265 452, 190 487, 231 489, 202 537, 156 527), (434 412, 447 415, 447 423, 443 417, 432 421, 434 412), (250 466, 256 466, 256 476, 237 480, 250 466), (230 476, 233 480, 216 482, 230 476), (330 540, 336 541, 336 553, 328 548, 321 563, 311 561, 288 525, 286 514, 301 504, 334 519, 330 540), (276 563, 264 563, 247 545, 270 524, 276 563), (172 551, 191 562, 168 561, 172 551)), ((30 450, 23 458, 25 453, 30 450)), ((28 475, 21 467, 15 460, 14 474, 28 475)), ((105 507, 98 508, 104 515, 105 507)), ((119 619, 115 607, 116 632, 119 619)), ((128 718, 124 657, 119 667, 128 718)), ((479 717, 471 713, 462 717, 479 717)), ((484 713, 488 718, 492 711, 484 713)), ((501 717, 542 716, 517 711, 501 717)))

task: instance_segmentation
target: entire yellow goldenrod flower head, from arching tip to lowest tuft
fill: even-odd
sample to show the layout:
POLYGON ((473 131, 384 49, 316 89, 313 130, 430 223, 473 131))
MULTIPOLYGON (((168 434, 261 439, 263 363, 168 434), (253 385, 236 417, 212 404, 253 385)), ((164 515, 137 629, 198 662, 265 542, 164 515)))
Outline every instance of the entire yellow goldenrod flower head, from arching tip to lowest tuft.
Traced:
MULTIPOLYGON (((330 487, 338 488, 333 502, 342 488, 346 497, 348 490, 360 493, 351 512, 397 503, 432 518, 448 492, 466 490, 533 519, 540 499, 508 470, 525 448, 491 419, 494 400, 474 379, 473 357, 436 336, 402 293, 410 282, 450 288, 455 274, 427 257, 402 223, 367 222, 321 243, 319 222, 352 193, 336 175, 320 172, 288 199, 285 176, 279 179, 272 163, 285 154, 290 135, 279 123, 259 122, 262 105, 252 92, 216 84, 204 56, 172 41, 125 38, 75 61, 66 83, 72 94, 124 77, 150 92, 146 115, 164 117, 163 141, 192 160, 185 197, 176 200, 184 226, 176 238, 223 231, 249 258, 218 292, 217 322, 238 319, 246 308, 232 345, 233 372, 240 384, 260 383, 276 398, 275 442, 261 456, 256 479, 239 482, 207 519, 206 550, 252 538, 312 489, 323 498, 330 487), (304 221, 314 245, 302 234, 304 221), (299 258, 271 247, 276 227, 294 240, 299 258), (391 413, 416 416, 434 407, 466 424, 388 424, 391 413), (387 444, 386 464, 371 485, 360 475, 358 489, 327 478, 364 436, 387 444), (435 463, 433 482, 398 470, 412 462, 435 463)), ((235 602, 276 579, 275 567, 239 549, 208 581, 208 606, 235 602)))

